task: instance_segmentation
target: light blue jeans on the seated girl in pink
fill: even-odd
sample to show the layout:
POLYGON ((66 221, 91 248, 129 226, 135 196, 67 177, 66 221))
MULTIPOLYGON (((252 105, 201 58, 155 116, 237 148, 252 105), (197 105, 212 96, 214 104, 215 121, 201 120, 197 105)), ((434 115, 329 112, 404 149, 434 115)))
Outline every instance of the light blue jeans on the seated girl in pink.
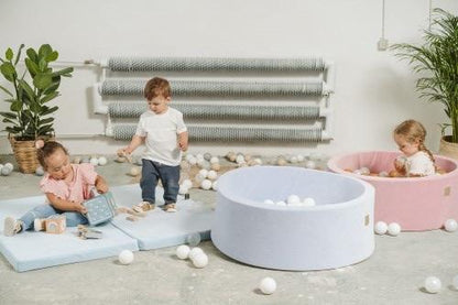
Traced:
POLYGON ((25 213, 19 220, 22 221, 22 230, 25 231, 29 229, 33 229, 33 221, 36 218, 47 218, 56 214, 62 214, 65 216, 67 227, 76 227, 78 225, 88 224, 87 218, 84 217, 83 214, 77 211, 63 211, 54 208, 50 204, 44 204, 34 207, 33 209, 25 213))

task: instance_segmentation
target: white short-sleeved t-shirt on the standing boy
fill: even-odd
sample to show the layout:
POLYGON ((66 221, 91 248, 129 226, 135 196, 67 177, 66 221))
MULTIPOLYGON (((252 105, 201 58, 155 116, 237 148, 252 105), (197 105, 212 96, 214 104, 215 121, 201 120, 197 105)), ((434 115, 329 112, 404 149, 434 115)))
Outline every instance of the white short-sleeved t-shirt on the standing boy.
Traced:
POLYGON ((140 116, 135 135, 146 137, 142 157, 176 166, 182 161, 177 134, 187 131, 183 113, 170 108, 161 115, 149 110, 140 116))

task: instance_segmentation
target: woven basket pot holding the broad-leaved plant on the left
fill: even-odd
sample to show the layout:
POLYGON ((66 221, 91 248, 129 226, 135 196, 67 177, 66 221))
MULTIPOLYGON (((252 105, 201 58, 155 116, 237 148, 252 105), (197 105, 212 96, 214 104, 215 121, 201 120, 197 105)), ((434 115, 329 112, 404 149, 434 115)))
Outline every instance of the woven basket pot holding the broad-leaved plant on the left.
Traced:
MULTIPOLYGON (((19 170, 24 174, 35 173, 36 168, 40 166, 35 141, 18 141, 11 134, 8 135, 8 139, 10 140, 19 170)), ((54 137, 40 137, 39 139, 48 141, 54 139, 54 137)))

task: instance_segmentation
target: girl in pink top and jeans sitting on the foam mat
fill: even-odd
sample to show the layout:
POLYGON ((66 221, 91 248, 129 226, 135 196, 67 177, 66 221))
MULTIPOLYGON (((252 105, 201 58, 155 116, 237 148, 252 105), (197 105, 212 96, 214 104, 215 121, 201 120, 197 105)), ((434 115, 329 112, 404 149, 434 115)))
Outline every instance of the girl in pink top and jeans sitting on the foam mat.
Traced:
POLYGON ((40 164, 46 171, 40 183, 47 201, 24 214, 20 219, 7 217, 4 219, 4 236, 13 236, 31 229, 44 229, 44 220, 51 216, 62 214, 66 218, 67 227, 87 224, 84 214, 87 213, 83 201, 91 198, 91 187, 97 192, 107 193, 108 186, 91 164, 70 164, 67 150, 58 142, 44 143, 36 141, 40 164))

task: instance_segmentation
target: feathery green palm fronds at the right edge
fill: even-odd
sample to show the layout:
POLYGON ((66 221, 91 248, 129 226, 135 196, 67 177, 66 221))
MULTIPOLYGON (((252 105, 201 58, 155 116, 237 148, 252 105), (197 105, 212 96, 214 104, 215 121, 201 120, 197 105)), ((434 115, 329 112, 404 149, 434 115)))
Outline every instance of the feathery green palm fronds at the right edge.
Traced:
POLYGON ((444 106, 450 121, 441 124, 443 132, 451 127, 451 142, 458 143, 458 17, 441 9, 434 13, 430 30, 424 31, 423 45, 400 43, 392 50, 421 74, 416 80, 421 97, 444 106))

